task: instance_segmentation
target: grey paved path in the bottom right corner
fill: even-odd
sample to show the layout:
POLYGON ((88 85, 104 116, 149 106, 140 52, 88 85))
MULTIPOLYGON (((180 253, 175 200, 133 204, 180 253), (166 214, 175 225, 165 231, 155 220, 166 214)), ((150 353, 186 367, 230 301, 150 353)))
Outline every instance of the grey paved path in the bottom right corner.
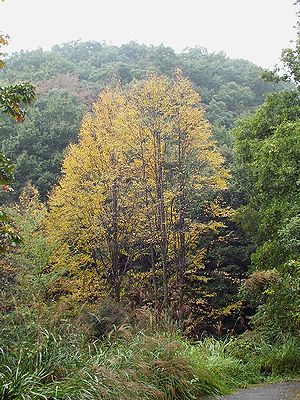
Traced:
MULTIPOLYGON (((212 398, 206 398, 211 400, 212 398)), ((222 400, 300 400, 300 382, 281 382, 251 386, 222 400)))

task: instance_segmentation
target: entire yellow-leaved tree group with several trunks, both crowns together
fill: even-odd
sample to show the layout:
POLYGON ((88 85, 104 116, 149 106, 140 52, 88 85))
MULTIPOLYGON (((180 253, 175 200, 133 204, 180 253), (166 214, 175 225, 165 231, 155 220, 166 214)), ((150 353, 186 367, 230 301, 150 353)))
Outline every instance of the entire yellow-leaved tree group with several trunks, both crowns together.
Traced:
POLYGON ((75 285, 66 291, 84 287, 91 299, 108 287, 119 300, 132 274, 142 286, 145 264, 155 306, 173 303, 181 319, 186 275, 204 254, 199 237, 221 224, 197 215, 200 203, 207 215, 220 213, 211 194, 228 178, 210 134, 180 71, 100 94, 49 200, 53 265, 75 285))

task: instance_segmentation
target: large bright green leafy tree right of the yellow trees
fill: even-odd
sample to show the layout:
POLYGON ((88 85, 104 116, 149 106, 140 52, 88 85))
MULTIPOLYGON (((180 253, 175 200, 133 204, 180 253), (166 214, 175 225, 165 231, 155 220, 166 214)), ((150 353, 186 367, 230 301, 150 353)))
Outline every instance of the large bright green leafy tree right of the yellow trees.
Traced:
POLYGON ((245 199, 238 218, 255 240, 253 261, 261 268, 289 258, 281 236, 299 210, 299 111, 297 92, 269 95, 235 129, 236 174, 245 199))

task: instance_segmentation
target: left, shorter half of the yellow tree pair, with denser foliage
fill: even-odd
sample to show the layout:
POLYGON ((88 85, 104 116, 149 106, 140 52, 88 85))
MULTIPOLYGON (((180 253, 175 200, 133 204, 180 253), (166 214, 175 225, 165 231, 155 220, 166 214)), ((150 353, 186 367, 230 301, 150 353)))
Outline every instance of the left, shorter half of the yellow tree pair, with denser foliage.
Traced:
POLYGON ((103 91, 83 121, 79 143, 69 147, 50 196, 48 232, 59 243, 55 264, 68 270, 60 284, 72 282, 70 290, 81 299, 108 288, 119 300, 135 256, 139 165, 131 155, 128 123, 134 118, 120 88, 103 91))

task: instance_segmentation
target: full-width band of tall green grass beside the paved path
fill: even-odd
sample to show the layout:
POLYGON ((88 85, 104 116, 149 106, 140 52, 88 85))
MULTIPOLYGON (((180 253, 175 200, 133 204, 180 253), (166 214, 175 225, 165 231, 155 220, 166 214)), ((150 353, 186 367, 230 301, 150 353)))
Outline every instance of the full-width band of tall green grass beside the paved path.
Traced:
POLYGON ((74 325, 50 331, 13 318, 0 332, 0 400, 196 400, 295 377, 300 366, 291 338, 191 344, 176 332, 123 327, 123 338, 92 342, 74 325))

